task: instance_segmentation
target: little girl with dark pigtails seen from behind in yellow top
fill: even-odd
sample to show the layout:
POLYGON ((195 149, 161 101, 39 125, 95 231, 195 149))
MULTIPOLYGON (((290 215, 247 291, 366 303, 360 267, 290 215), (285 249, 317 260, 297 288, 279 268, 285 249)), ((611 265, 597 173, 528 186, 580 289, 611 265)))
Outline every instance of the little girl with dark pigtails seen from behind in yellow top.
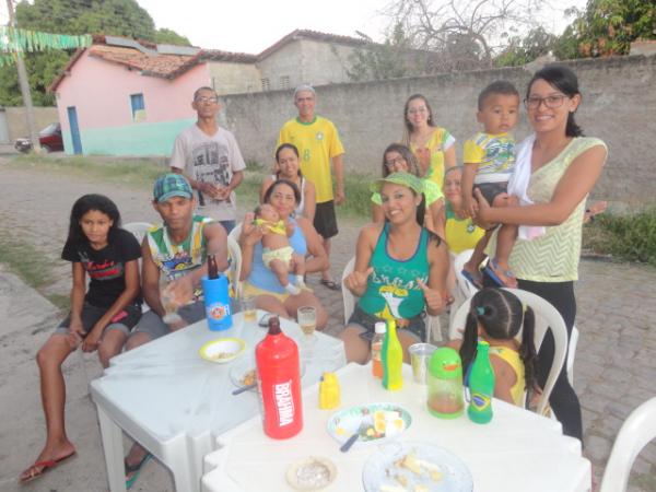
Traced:
MULTIPOLYGON (((490 343, 494 397, 524 407, 524 391, 536 387, 535 315, 517 296, 502 289, 482 289, 471 298, 460 358, 465 371, 476 358, 477 339, 490 343), (522 342, 516 337, 519 330, 522 342)), ((458 343, 459 344, 459 343, 458 343)))

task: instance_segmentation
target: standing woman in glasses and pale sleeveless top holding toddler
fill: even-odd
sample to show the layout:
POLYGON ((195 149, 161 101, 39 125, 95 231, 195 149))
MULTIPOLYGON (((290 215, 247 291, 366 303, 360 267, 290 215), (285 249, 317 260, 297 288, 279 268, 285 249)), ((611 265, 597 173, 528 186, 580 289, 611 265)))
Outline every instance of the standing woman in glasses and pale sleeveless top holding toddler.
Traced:
MULTIPOLYGON (((581 234, 585 200, 601 174, 606 144, 583 137, 574 120, 581 105, 576 75, 567 67, 550 65, 530 80, 525 105, 534 134, 517 151, 515 176, 527 181, 527 196, 534 204, 490 207, 477 191, 478 218, 488 223, 544 226, 542 236, 517 239, 509 263, 519 289, 550 302, 572 332, 576 316, 574 281, 578 279, 581 234), (520 169, 520 155, 527 153, 520 169)), ((515 177, 514 177, 515 178, 515 177)), ((495 250, 496 235, 488 246, 495 250)), ((490 279, 484 279, 491 284, 490 279)), ((543 386, 554 354, 553 336, 547 332, 538 354, 538 384, 543 386)), ((581 405, 563 367, 549 398, 563 424, 563 432, 582 438, 581 405)))

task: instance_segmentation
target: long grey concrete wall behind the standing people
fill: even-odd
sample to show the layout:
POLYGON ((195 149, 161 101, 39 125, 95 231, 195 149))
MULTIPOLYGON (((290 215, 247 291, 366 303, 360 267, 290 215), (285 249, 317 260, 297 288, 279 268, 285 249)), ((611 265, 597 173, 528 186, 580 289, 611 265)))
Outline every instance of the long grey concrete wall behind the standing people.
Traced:
MULTIPOLYGON (((625 203, 655 201, 656 57, 577 60, 567 65, 578 74, 583 104, 577 120, 586 134, 604 139, 610 149, 608 164, 594 195, 625 203)), ((402 109, 408 96, 424 94, 437 125, 458 140, 477 131, 476 102, 481 89, 494 80, 526 90, 535 68, 333 84, 317 87, 317 113, 331 119, 345 147, 345 165, 358 173, 379 172, 382 152, 402 137, 402 109)), ((244 157, 269 164, 281 125, 296 116, 292 91, 224 97, 221 118, 236 136, 244 157)), ((515 136, 529 128, 523 110, 515 136)))

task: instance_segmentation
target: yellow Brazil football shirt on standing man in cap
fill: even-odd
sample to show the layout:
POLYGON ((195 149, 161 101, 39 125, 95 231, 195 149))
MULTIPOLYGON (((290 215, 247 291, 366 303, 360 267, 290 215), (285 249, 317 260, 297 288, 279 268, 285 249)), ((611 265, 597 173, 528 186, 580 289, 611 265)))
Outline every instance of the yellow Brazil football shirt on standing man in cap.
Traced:
POLYGON ((282 143, 293 143, 298 149, 301 171, 314 184, 317 203, 332 200, 330 160, 344 153, 335 125, 320 116, 307 124, 290 119, 280 129, 278 145, 282 143))

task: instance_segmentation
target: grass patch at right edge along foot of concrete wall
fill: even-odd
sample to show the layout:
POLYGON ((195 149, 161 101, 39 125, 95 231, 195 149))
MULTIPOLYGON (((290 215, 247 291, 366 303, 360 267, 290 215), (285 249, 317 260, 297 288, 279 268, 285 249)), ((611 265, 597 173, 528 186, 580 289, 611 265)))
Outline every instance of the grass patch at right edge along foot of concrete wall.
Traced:
POLYGON ((656 207, 598 215, 584 227, 583 246, 625 261, 656 266, 656 207))

